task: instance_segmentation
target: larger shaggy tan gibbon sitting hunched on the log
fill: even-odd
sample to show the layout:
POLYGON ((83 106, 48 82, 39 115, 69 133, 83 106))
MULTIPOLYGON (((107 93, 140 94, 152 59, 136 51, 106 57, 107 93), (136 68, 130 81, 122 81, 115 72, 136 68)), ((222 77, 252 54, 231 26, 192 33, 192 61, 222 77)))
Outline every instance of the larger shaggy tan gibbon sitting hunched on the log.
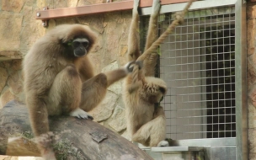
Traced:
POLYGON ((41 155, 55 160, 51 147, 48 116, 71 115, 93 119, 86 111, 96 107, 112 83, 132 72, 132 63, 94 75, 87 56, 96 35, 81 24, 63 24, 49 31, 24 57, 24 93, 29 118, 41 155))

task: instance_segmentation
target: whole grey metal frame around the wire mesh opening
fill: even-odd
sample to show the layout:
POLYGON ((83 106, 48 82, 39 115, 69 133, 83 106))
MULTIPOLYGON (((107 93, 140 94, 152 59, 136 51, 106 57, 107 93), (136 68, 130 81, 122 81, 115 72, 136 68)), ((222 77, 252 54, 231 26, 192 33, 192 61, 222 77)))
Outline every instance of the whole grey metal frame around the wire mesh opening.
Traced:
MULTIPOLYGON (((162 6, 160 13, 173 13, 183 10, 186 3, 169 4, 162 6)), ((243 0, 208 0, 192 4, 189 10, 235 6, 236 9, 236 137, 216 139, 179 140, 179 146, 236 146, 236 159, 248 159, 248 104, 247 104, 247 28, 246 4, 243 0)), ((152 8, 141 8, 142 15, 151 14, 152 8)), ((161 148, 152 148, 154 152, 162 152, 161 148)))

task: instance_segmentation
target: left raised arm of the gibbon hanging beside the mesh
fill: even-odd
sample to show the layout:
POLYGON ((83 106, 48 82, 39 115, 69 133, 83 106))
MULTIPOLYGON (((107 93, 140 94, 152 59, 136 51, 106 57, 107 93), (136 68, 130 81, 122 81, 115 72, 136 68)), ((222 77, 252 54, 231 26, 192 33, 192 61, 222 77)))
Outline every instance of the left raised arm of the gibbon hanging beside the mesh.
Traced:
POLYGON ((134 0, 132 19, 128 36, 128 61, 136 61, 140 56, 139 13, 140 0, 134 0))

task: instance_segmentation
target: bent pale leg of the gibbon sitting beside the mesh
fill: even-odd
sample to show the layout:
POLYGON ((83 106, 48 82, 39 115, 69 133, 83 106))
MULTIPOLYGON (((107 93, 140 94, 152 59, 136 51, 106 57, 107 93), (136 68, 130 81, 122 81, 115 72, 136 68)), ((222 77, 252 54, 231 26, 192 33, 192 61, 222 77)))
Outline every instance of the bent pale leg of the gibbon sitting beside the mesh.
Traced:
POLYGON ((168 146, 168 141, 163 141, 165 138, 165 123, 163 108, 158 107, 155 111, 154 119, 142 125, 132 136, 132 141, 137 141, 150 147, 168 146))

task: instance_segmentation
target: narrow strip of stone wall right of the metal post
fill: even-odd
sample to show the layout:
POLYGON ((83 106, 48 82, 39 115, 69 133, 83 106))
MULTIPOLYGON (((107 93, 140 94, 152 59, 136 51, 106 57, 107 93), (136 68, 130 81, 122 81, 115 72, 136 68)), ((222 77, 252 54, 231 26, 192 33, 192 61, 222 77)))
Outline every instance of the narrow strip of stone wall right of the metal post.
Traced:
MULTIPOLYGON (((256 1, 254 1, 256 2, 256 1)), ((256 160, 256 3, 248 2, 248 159, 256 160)))

